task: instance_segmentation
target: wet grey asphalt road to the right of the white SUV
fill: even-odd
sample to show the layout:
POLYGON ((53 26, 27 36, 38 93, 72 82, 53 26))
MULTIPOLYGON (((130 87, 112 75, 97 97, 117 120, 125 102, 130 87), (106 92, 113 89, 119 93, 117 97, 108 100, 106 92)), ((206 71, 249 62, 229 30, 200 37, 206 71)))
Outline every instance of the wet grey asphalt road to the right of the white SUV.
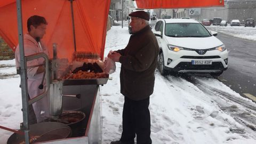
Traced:
POLYGON ((235 92, 256 97, 256 42, 218 33, 229 51, 228 69, 218 79, 235 92))

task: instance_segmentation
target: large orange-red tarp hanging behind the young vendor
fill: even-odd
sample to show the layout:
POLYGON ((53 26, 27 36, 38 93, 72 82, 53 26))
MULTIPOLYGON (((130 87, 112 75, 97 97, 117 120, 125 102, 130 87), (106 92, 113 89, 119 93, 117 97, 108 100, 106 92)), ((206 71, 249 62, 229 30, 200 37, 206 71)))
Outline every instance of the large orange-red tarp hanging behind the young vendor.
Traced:
MULTIPOLYGON (((73 27, 69 0, 22 0, 23 33, 27 19, 41 15, 48 22, 43 41, 52 53, 52 43, 58 44, 58 57, 71 58, 74 52, 73 27)), ((76 49, 98 53, 103 58, 110 0, 73 1, 76 49)), ((0 35, 13 49, 18 44, 17 8, 15 0, 0 1, 0 35)), ((15 50, 15 49, 13 49, 15 50)))

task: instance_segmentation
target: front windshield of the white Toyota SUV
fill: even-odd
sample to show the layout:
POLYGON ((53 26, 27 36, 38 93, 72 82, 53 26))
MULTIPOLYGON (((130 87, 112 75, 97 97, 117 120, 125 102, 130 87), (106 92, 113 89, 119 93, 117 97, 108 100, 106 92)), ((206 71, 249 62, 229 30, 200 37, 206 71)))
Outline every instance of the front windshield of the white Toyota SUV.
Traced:
POLYGON ((200 23, 166 23, 165 35, 170 37, 210 37, 200 23))

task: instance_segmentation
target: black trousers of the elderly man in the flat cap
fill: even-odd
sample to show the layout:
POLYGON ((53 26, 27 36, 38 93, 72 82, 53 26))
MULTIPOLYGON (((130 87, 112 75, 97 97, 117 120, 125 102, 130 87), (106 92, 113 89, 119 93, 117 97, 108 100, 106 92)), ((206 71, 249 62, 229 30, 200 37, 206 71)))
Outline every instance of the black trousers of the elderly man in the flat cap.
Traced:
POLYGON ((134 143, 135 134, 137 144, 150 144, 150 112, 148 109, 149 98, 139 101, 124 99, 123 132, 121 141, 134 143))

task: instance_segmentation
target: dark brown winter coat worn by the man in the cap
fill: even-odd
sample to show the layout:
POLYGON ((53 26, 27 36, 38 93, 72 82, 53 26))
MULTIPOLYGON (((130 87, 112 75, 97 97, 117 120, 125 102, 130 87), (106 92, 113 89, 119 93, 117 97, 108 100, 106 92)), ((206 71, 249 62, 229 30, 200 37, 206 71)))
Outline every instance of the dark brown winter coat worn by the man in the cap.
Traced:
POLYGON ((148 98, 154 90, 155 69, 159 46, 149 26, 131 35, 122 56, 120 72, 121 93, 132 100, 148 98))

